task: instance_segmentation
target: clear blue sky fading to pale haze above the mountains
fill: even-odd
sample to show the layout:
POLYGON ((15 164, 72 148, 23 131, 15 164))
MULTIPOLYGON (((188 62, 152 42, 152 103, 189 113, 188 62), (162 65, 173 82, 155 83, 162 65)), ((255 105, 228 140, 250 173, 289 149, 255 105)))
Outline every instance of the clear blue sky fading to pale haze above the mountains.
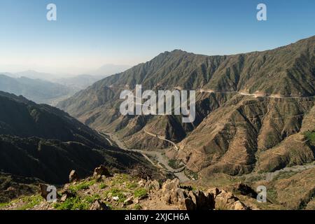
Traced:
POLYGON ((267 50, 315 35, 313 0, 1 0, 0 71, 84 73, 181 49, 267 50), (57 21, 46 20, 48 3, 57 21), (256 20, 258 3, 267 21, 256 20))

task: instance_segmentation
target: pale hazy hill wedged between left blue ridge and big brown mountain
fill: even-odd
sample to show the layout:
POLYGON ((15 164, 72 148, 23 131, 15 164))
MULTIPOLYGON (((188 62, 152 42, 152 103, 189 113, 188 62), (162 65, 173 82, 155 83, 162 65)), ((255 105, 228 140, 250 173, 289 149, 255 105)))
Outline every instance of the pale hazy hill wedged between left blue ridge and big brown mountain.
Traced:
POLYGON ((55 83, 66 85, 76 90, 83 90, 93 83, 105 78, 106 76, 91 76, 91 75, 79 75, 70 78, 58 78, 55 79, 55 83))

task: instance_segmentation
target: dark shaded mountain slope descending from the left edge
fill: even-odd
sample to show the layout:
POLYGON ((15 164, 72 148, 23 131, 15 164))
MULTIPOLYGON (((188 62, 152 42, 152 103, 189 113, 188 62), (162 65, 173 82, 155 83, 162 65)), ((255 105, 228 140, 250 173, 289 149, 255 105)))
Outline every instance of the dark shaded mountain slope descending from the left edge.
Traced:
POLYGON ((71 169, 81 176, 100 164, 127 169, 144 158, 110 146, 67 113, 0 92, 0 170, 48 183, 65 183, 71 169))

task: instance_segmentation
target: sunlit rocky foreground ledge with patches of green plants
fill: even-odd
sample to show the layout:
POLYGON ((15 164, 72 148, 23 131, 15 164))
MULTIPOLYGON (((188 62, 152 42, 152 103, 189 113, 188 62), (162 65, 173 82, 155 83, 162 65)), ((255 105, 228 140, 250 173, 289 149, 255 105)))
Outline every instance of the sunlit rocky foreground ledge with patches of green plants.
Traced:
POLYGON ((97 167, 94 175, 80 179, 75 171, 57 190, 57 202, 47 202, 47 185, 38 195, 20 197, 0 209, 25 210, 221 210, 250 209, 232 193, 218 188, 195 190, 181 186, 179 179, 157 181, 131 174, 110 174, 97 167))

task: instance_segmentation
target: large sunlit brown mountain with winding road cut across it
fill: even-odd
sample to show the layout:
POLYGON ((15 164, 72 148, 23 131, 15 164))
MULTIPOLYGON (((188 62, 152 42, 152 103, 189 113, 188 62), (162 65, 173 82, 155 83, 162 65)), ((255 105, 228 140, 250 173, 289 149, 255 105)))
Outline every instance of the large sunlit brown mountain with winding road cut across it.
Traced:
POLYGON ((130 148, 172 146, 154 134, 174 141, 181 149, 174 157, 202 176, 216 172, 236 175, 314 160, 314 148, 307 142, 298 145, 298 151, 274 151, 281 144, 282 148, 295 146, 290 144, 295 134, 297 141, 304 141, 305 119, 309 120, 307 130, 314 129, 314 121, 309 119, 314 93, 312 36, 274 50, 239 55, 164 52, 94 83, 58 106, 90 127, 117 132, 130 148), (180 116, 121 116, 119 94, 134 90, 137 84, 143 90, 214 92, 197 91, 193 124, 181 123, 180 116), (265 154, 270 151, 275 153, 265 154))

